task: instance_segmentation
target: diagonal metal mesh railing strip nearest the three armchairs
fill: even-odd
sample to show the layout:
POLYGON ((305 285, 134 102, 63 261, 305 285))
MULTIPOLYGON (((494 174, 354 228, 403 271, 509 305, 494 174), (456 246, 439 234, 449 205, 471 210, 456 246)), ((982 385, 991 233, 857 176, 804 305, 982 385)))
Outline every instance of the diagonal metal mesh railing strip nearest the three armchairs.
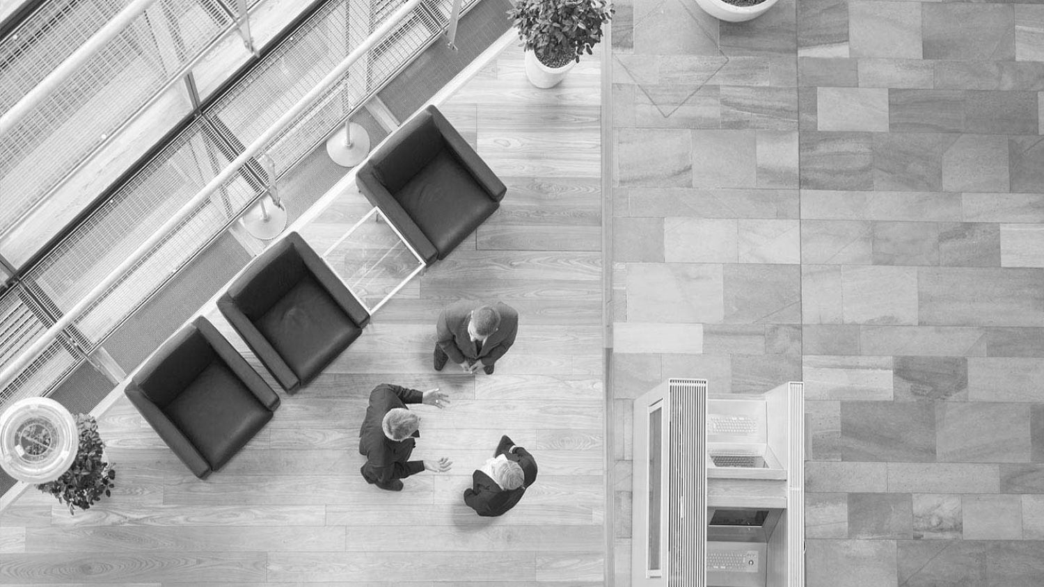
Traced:
POLYGON ((360 11, 358 0, 333 0, 266 55, 24 277, 58 319, 38 325, 31 346, 0 339, 0 402, 49 393, 263 195, 257 156, 271 156, 277 174, 292 167, 437 38, 451 3, 378 0, 360 11), (380 20, 406 4, 394 26, 380 20))

